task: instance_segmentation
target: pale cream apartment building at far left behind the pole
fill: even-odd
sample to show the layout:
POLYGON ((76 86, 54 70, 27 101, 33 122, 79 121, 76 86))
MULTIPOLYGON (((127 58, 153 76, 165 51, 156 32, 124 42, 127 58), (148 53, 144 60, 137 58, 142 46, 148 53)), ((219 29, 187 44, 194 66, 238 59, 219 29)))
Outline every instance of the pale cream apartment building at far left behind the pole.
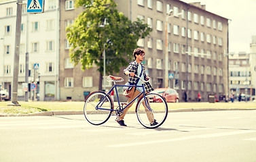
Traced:
MULTIPOLYGON (((0 84, 12 94, 17 1, 0 1, 0 84)), ((43 14, 27 14, 22 5, 18 99, 24 100, 25 53, 29 53, 29 82, 37 84, 37 99, 58 99, 59 13, 58 1, 45 2, 43 14), (37 68, 35 68, 35 65, 37 68)), ((33 93, 31 93, 32 97, 33 93)))

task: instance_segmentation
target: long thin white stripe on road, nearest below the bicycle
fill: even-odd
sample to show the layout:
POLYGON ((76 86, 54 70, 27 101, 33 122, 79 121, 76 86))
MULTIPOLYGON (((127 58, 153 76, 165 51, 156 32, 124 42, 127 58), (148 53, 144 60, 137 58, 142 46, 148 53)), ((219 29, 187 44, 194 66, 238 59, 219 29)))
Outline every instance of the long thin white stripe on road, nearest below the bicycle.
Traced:
POLYGON ((124 143, 124 144, 111 144, 111 145, 107 145, 107 147, 139 146, 139 145, 145 145, 145 144, 156 144, 156 143, 172 142, 172 141, 179 141, 179 140, 190 140, 190 139, 195 139, 195 138, 214 138, 214 137, 219 137, 219 136, 231 136, 231 135, 236 135, 236 134, 246 134, 246 133, 253 133, 253 132, 256 132, 256 130, 240 130, 240 131, 234 131, 234 132, 221 132, 221 133, 215 133, 215 134, 186 136, 186 137, 166 139, 166 140, 151 140, 151 141, 145 141, 145 142, 130 142, 130 143, 124 143))

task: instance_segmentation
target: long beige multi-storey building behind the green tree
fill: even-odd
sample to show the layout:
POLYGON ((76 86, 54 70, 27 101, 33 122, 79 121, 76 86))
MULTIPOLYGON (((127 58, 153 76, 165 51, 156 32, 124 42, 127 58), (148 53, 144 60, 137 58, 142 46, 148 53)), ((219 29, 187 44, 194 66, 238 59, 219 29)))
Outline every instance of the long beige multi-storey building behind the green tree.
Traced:
MULTIPOLYGON (((185 90, 189 101, 196 101, 198 92, 202 101, 208 99, 208 94, 217 94, 217 97, 228 94, 227 57, 224 55, 228 53, 227 18, 206 11, 200 3, 178 0, 115 2, 117 9, 130 20, 140 18, 152 28, 147 38, 138 41, 138 46, 146 51, 145 67, 153 88, 175 88, 180 101, 183 101, 185 90), (170 16, 166 19, 169 11, 170 16)), ((65 27, 81 11, 74 9, 73 1, 60 1, 60 100, 82 100, 84 92, 98 89, 96 68, 82 72, 79 65, 73 67, 69 63, 65 27)))

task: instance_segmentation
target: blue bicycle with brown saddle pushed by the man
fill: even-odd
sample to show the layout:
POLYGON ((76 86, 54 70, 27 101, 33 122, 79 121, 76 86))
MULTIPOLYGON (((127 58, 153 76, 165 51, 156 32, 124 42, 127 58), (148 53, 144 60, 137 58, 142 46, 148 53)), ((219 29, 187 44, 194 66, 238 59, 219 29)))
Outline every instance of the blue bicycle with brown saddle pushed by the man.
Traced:
MULTIPOLYGON (((142 87, 143 92, 141 92, 137 97, 135 97, 128 104, 120 103, 117 87, 133 86, 133 85, 116 84, 116 82, 124 81, 123 78, 117 77, 117 76, 108 76, 107 81, 114 82, 114 85, 111 88, 111 90, 109 90, 109 92, 106 93, 104 91, 94 91, 90 93, 88 97, 86 97, 85 99, 84 116, 86 117, 87 121, 90 124, 93 124, 93 125, 104 124, 109 119, 109 117, 112 115, 113 112, 115 112, 115 114, 113 115, 117 115, 117 117, 122 115, 122 112, 124 111, 124 109, 126 109, 128 105, 133 103, 133 101, 138 99, 141 96, 141 94, 143 94, 143 96, 140 97, 135 107, 135 113, 137 118, 139 119, 139 122, 145 128, 158 128, 164 123, 168 115, 168 105, 162 96, 154 93, 146 94, 144 84, 142 84, 142 86, 135 86, 135 87, 142 87), (114 103, 109 95, 112 90, 115 90, 115 94, 117 94, 116 107, 114 107, 114 103), (154 119, 156 119, 156 121, 158 122, 158 124, 156 124, 155 126, 151 126, 151 124, 149 123, 149 118, 147 117, 149 113, 152 113, 154 119)), ((142 80, 142 81, 149 82, 149 80, 147 81, 142 80)))

